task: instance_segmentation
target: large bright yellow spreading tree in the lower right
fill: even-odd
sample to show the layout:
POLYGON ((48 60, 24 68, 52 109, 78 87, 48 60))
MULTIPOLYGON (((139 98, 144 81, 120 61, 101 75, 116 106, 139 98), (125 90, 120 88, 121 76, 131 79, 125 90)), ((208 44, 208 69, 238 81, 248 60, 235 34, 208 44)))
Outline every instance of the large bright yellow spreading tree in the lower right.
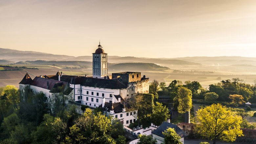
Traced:
POLYGON ((199 122, 195 130, 201 136, 213 140, 235 141, 236 136, 242 136, 240 130, 242 118, 234 115, 221 104, 212 104, 197 112, 197 121, 199 122))

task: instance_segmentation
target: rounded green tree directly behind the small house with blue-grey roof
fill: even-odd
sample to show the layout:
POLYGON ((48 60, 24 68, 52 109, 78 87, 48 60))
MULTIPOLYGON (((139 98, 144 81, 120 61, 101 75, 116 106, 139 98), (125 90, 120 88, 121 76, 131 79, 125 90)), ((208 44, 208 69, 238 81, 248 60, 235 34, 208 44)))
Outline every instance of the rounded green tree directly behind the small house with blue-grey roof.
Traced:
POLYGON ((170 115, 168 108, 166 108, 166 106, 163 106, 162 103, 156 102, 156 105, 153 106, 152 109, 151 122, 159 126, 169 117, 170 115))

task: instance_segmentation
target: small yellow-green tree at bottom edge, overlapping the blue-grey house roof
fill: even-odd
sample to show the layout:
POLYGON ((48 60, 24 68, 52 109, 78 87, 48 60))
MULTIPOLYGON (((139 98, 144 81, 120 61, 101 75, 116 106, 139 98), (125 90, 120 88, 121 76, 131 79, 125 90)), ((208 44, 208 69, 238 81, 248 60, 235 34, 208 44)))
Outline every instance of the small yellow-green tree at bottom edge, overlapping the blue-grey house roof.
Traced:
POLYGON ((181 137, 175 132, 174 128, 168 128, 162 133, 164 135, 164 144, 182 144, 181 137))

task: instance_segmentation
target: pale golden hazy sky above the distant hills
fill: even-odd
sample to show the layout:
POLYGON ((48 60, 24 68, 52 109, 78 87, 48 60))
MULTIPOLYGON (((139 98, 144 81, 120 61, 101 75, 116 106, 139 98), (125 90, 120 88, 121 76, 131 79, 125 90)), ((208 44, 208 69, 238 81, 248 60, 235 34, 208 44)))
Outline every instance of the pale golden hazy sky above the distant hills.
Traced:
MULTIPOLYGON (((116 56, 256 57, 256 0, 0 0, 0 47, 116 56)), ((1 59, 1 58, 0 58, 1 59)))

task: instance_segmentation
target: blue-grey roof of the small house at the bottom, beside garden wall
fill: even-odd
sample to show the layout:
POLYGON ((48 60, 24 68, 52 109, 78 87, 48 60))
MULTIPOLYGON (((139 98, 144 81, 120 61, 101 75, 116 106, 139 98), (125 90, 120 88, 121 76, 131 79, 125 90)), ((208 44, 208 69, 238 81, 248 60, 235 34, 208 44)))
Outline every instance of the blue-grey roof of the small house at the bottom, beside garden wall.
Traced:
POLYGON ((166 131, 168 128, 174 128, 175 132, 178 135, 180 135, 181 138, 187 136, 187 134, 183 132, 177 125, 173 123, 168 123, 166 121, 164 121, 156 130, 154 130, 152 134, 155 134, 164 138, 164 135, 162 134, 162 132, 166 131))

